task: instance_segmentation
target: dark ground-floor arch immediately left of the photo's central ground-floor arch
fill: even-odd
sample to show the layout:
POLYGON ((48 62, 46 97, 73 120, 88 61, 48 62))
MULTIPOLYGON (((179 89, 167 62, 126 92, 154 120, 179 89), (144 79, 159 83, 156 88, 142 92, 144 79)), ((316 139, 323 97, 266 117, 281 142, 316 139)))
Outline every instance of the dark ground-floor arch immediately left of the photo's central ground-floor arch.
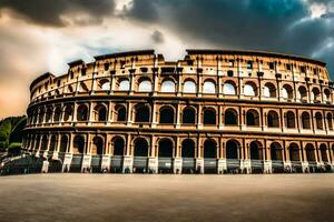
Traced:
POLYGON ((147 158, 148 153, 148 142, 144 138, 138 138, 135 140, 134 150, 134 173, 146 173, 147 172, 147 158))

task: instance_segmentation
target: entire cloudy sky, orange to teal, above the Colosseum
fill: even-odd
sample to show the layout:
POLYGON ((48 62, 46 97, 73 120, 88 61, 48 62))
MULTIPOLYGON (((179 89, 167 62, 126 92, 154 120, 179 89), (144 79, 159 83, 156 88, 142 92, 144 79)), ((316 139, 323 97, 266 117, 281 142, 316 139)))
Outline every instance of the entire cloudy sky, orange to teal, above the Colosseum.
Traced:
POLYGON ((24 114, 31 81, 70 61, 194 48, 312 57, 334 80, 334 0, 0 0, 0 119, 24 114))

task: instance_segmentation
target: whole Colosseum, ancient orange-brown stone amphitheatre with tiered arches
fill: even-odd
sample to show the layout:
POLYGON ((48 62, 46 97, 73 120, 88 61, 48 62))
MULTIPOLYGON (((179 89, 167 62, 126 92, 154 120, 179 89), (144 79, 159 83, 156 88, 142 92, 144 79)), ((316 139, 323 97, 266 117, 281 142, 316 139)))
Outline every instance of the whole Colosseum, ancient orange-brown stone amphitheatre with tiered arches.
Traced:
POLYGON ((68 65, 30 85, 23 149, 49 172, 333 171, 334 84, 322 61, 143 50, 68 65))

